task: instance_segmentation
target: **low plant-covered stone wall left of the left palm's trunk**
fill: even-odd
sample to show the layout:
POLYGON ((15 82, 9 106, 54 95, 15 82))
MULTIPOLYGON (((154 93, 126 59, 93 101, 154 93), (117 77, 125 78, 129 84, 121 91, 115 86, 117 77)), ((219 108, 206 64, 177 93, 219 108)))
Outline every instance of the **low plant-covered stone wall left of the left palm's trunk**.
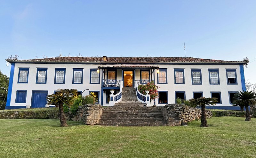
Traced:
POLYGON ((2 111, 0 119, 59 119, 59 108, 28 111, 2 111))

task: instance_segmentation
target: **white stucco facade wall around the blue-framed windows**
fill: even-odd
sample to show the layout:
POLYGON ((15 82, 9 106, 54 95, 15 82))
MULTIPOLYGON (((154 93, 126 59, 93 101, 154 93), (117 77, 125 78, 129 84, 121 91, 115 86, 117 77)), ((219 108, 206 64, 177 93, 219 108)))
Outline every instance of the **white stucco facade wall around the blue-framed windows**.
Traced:
MULTIPOLYGON (((133 64, 136 65, 136 64, 133 64)), ((152 64, 151 64, 152 65, 152 64)), ((32 90, 48 90, 49 94, 52 94, 57 89, 77 89, 83 91, 90 89, 90 91, 100 91, 99 101, 101 102, 101 79, 102 73, 100 72, 100 84, 90 83, 90 68, 97 68, 97 64, 20 64, 16 63, 14 68, 13 85, 11 106, 19 106, 31 104, 32 90), (28 83, 17 83, 19 68, 29 68, 28 83), (36 84, 36 68, 48 68, 47 71, 47 84, 36 84), (55 68, 66 68, 65 84, 54 84, 55 68), (83 72, 83 84, 72 84, 73 68, 84 68, 83 72), (16 91, 27 90, 26 103, 15 103, 16 91)), ((241 76, 239 65, 154 65, 160 68, 167 68, 167 80, 168 84, 158 84, 159 91, 168 91, 168 103, 175 103, 175 91, 186 91, 186 99, 193 98, 193 91, 203 91, 204 97, 211 97, 211 91, 221 92, 222 104, 216 106, 231 106, 229 104, 228 91, 242 90, 241 76), (185 84, 174 84, 174 68, 185 69, 185 84), (192 85, 191 81, 191 68, 202 69, 202 85, 192 85), (208 68, 219 68, 220 84, 209 84, 208 68), (228 85, 226 77, 226 68, 236 68, 237 85, 228 85)), ((105 73, 105 79, 107 75, 105 73)), ((122 70, 117 69, 117 79, 122 79, 122 70)), ((153 78, 154 79, 154 78, 153 78)), ((140 80, 140 70, 135 72, 135 80, 140 80)), ((155 83, 157 83, 157 73, 155 70, 155 83)), ((85 91, 83 95, 89 94, 89 91, 85 91)), ((156 100, 157 104, 157 100, 156 100)), ((103 105, 106 104, 106 95, 103 93, 103 105)), ((165 104, 159 104, 165 105, 165 104)))

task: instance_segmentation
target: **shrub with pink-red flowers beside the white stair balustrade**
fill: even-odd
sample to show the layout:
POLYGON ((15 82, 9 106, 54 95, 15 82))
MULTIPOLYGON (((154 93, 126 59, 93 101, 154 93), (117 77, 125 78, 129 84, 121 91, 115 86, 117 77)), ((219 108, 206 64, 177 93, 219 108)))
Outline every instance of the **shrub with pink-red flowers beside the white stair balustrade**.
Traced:
POLYGON ((158 86, 155 85, 154 81, 151 81, 150 83, 148 82, 147 84, 140 84, 138 86, 138 90, 140 91, 140 93, 146 95, 146 91, 149 91, 149 95, 150 95, 150 101, 153 99, 156 99, 158 97, 158 86))

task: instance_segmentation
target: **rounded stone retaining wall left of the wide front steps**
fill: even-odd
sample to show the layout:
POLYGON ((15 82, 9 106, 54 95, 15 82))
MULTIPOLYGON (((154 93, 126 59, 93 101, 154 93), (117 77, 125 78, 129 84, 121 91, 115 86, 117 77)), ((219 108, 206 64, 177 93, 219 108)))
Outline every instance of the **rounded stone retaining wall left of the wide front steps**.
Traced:
POLYGON ((99 104, 86 104, 79 106, 76 114, 72 117, 73 121, 82 121, 86 125, 97 125, 100 122, 102 106, 99 104))

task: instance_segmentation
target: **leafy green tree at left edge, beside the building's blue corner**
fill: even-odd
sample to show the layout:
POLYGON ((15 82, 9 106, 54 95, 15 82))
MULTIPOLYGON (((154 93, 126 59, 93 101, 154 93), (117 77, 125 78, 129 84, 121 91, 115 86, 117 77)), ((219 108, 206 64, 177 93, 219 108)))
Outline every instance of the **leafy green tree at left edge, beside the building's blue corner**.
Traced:
POLYGON ((0 71, 0 109, 5 108, 8 86, 9 86, 9 77, 4 75, 0 71))

